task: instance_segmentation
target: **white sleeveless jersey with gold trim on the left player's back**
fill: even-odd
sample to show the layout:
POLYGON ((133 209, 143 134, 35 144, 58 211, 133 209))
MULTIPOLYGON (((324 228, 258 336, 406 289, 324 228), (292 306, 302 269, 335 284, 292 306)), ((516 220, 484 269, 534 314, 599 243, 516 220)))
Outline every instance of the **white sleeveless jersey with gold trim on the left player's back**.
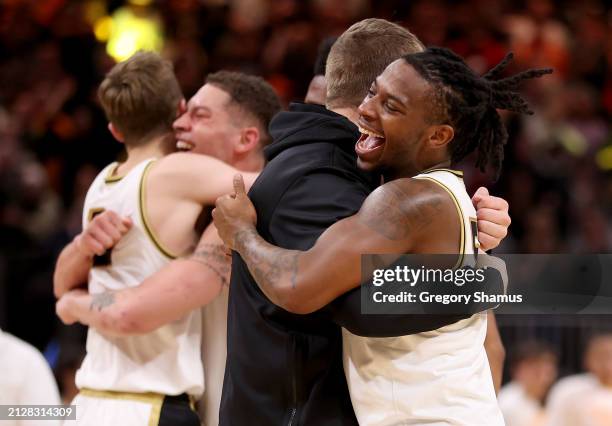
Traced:
MULTIPOLYGON (((109 178, 117 167, 113 163, 87 192, 83 228, 104 210, 129 216, 133 222, 110 251, 110 259, 94 262, 89 274, 91 294, 135 287, 171 260, 148 226, 144 211, 144 181, 153 161, 138 164, 123 178, 109 178)), ((79 389, 199 396, 204 390, 201 328, 200 309, 143 335, 112 337, 89 328, 87 355, 76 384, 79 389)))

